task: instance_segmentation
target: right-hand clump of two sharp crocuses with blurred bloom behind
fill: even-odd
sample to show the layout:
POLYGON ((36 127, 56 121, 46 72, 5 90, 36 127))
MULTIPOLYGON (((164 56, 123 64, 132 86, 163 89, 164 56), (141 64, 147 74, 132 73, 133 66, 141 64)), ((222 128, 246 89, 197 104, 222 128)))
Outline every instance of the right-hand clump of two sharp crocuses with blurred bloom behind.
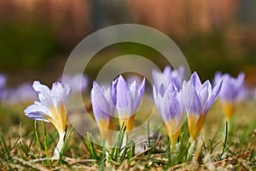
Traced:
POLYGON ((182 127, 184 111, 188 117, 189 140, 193 142, 200 133, 207 111, 217 99, 222 86, 222 80, 213 88, 209 81, 201 83, 196 72, 186 82, 183 74, 182 67, 172 71, 167 66, 163 73, 153 71, 154 103, 164 120, 172 149, 182 127))

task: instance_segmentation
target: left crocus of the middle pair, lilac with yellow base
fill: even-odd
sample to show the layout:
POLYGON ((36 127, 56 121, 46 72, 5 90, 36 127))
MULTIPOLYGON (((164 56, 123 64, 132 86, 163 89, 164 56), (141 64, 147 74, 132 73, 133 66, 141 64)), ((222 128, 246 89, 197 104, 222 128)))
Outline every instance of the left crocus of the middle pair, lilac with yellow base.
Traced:
POLYGON ((93 83, 93 87, 90 92, 91 105, 96 123, 100 129, 102 136, 107 140, 108 145, 112 143, 112 131, 114 129, 113 116, 115 111, 116 82, 113 82, 112 86, 100 87, 96 82, 93 83))

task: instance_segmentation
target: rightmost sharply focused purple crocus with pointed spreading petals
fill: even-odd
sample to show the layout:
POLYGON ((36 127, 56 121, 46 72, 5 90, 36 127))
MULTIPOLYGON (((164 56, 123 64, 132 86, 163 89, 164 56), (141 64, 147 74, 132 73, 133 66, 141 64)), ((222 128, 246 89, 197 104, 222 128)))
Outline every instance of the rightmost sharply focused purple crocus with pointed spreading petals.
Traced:
POLYGON ((222 80, 214 88, 208 80, 202 84, 196 72, 189 82, 183 82, 183 103, 188 117, 190 142, 200 133, 207 111, 217 99, 221 86, 222 80))

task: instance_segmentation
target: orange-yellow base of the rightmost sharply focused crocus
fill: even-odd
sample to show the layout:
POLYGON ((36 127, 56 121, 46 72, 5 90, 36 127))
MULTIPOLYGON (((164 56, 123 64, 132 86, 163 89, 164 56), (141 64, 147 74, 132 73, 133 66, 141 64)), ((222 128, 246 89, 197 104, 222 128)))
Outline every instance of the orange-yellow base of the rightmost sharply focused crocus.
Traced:
POLYGON ((189 122, 189 134, 190 134, 190 142, 192 143, 197 135, 200 133, 201 128, 204 124, 205 116, 201 114, 199 117, 196 117, 193 114, 189 114, 188 122, 189 122))

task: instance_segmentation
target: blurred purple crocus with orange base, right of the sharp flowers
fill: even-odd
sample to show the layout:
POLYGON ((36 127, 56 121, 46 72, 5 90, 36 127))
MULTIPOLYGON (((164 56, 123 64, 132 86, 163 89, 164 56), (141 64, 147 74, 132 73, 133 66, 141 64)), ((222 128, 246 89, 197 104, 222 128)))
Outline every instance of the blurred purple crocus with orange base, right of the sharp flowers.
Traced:
POLYGON ((214 83, 218 83, 219 79, 223 80, 223 85, 219 93, 219 100, 227 121, 230 121, 230 118, 235 111, 236 102, 241 100, 241 97, 244 96, 244 77, 245 74, 243 72, 236 78, 231 77, 230 74, 227 73, 222 75, 220 72, 217 72, 214 76, 214 83))

